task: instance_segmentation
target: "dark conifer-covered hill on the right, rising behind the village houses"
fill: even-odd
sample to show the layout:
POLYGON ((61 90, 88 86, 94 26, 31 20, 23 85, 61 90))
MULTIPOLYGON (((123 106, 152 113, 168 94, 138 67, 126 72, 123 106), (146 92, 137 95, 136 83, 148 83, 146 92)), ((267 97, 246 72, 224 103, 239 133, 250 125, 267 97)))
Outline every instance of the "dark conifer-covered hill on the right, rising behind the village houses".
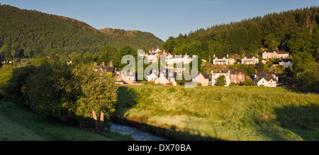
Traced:
POLYGON ((300 8, 240 22, 201 28, 170 37, 163 49, 177 54, 198 54, 204 59, 226 54, 260 54, 261 48, 306 51, 318 59, 319 7, 300 8), (296 41, 299 37, 303 42, 296 41), (294 42, 294 43, 293 43, 294 42), (305 43, 306 45, 300 45, 305 43))

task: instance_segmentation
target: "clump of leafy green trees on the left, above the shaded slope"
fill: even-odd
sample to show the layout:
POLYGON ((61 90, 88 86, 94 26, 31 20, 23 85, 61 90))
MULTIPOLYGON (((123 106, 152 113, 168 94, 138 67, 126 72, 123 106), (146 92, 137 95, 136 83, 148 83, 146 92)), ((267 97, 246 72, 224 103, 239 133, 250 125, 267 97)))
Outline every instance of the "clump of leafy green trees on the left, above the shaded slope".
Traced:
POLYGON ((118 86, 112 76, 94 71, 94 64, 6 64, 0 74, 1 98, 22 102, 35 113, 79 125, 93 118, 96 130, 103 130, 115 111, 118 86))

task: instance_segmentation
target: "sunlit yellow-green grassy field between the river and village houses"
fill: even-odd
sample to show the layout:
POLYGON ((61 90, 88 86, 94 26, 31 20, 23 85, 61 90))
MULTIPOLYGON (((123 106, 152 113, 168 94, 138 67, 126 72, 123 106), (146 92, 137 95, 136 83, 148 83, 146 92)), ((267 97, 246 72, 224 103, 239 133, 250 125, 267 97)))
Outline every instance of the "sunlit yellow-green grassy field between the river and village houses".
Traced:
POLYGON ((118 91, 119 120, 174 139, 319 140, 318 94, 257 86, 121 86, 118 91))

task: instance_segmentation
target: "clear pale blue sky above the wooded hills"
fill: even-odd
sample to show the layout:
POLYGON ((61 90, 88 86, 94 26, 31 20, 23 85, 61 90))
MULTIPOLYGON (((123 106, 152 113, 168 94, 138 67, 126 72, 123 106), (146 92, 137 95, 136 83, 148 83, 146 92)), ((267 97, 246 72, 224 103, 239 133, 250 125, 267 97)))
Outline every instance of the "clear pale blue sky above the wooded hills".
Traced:
POLYGON ((0 3, 74 18, 98 30, 149 32, 163 41, 213 25, 319 6, 318 0, 0 0, 0 3))

